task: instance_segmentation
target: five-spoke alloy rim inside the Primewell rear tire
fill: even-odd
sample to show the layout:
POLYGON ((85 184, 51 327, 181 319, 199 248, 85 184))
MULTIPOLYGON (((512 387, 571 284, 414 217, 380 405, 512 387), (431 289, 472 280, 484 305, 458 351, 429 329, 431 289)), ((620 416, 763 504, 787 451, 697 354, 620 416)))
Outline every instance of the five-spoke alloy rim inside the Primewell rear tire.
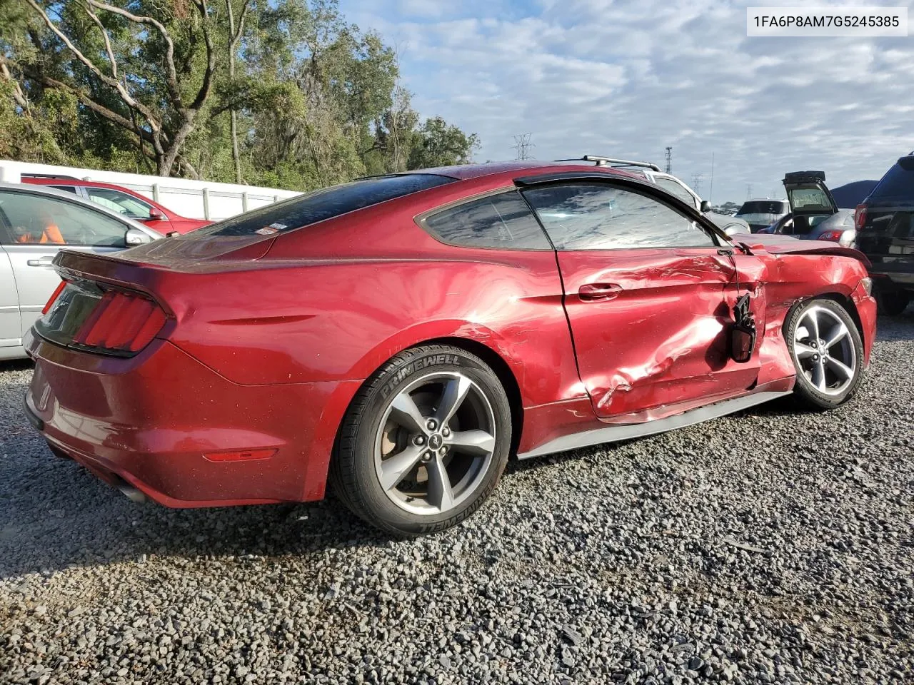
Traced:
POLYGON ((492 462, 495 418, 459 372, 422 376, 388 402, 375 438, 381 488, 400 509, 433 515, 466 501, 492 462))

